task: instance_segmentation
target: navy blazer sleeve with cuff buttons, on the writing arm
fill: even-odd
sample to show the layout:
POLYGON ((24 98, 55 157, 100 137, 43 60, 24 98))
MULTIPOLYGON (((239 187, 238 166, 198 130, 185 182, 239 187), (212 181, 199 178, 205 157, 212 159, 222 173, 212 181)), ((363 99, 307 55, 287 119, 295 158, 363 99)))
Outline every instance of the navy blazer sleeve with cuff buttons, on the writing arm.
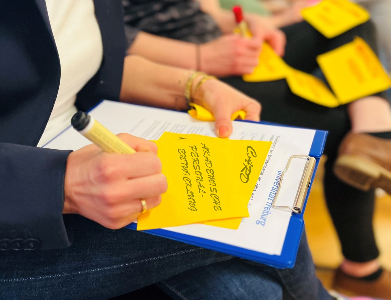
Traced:
POLYGON ((62 216, 70 152, 0 143, 3 250, 59 249, 70 245, 62 216))

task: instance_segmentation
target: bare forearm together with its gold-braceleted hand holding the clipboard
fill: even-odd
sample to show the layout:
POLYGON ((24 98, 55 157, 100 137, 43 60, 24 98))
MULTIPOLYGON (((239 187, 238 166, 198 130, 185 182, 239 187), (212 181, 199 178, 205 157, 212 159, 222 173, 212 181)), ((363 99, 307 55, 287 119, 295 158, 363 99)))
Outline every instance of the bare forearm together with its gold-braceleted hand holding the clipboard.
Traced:
POLYGON ((219 137, 232 132, 231 115, 238 110, 246 112, 246 120, 259 121, 260 105, 254 99, 219 80, 204 75, 191 76, 192 71, 168 67, 142 57, 125 58, 120 100, 154 107, 185 110, 187 83, 192 83, 190 98, 195 104, 209 110, 215 117, 219 137), (203 78, 206 81, 202 81, 203 78), (208 80, 212 79, 212 80, 208 80), (201 83, 201 84, 200 84, 201 83))

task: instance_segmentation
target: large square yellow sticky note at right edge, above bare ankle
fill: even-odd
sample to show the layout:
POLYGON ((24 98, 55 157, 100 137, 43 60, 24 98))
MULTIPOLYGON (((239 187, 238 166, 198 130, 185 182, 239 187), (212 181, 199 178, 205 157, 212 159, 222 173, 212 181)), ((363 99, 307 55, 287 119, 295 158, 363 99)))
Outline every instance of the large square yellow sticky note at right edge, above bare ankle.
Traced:
POLYGON ((319 55, 317 62, 341 104, 385 91, 391 86, 377 55, 360 37, 319 55))

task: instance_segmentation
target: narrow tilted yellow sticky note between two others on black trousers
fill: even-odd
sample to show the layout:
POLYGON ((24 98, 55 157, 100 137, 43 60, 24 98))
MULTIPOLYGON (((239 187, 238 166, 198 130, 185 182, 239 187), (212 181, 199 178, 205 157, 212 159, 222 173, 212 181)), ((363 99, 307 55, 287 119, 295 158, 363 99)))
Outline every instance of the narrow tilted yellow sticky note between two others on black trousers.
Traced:
POLYGON ((292 93, 326 107, 340 105, 327 85, 319 78, 291 68, 287 75, 287 83, 292 93))

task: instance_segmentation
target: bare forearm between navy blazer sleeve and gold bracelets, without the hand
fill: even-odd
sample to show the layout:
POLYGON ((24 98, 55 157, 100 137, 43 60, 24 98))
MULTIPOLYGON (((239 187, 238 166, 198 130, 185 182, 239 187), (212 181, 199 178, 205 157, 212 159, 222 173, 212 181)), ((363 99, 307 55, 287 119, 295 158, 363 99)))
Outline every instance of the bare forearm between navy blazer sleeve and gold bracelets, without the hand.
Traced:
POLYGON ((124 60, 120 100, 128 103, 184 110, 190 71, 169 67, 136 55, 124 60))

